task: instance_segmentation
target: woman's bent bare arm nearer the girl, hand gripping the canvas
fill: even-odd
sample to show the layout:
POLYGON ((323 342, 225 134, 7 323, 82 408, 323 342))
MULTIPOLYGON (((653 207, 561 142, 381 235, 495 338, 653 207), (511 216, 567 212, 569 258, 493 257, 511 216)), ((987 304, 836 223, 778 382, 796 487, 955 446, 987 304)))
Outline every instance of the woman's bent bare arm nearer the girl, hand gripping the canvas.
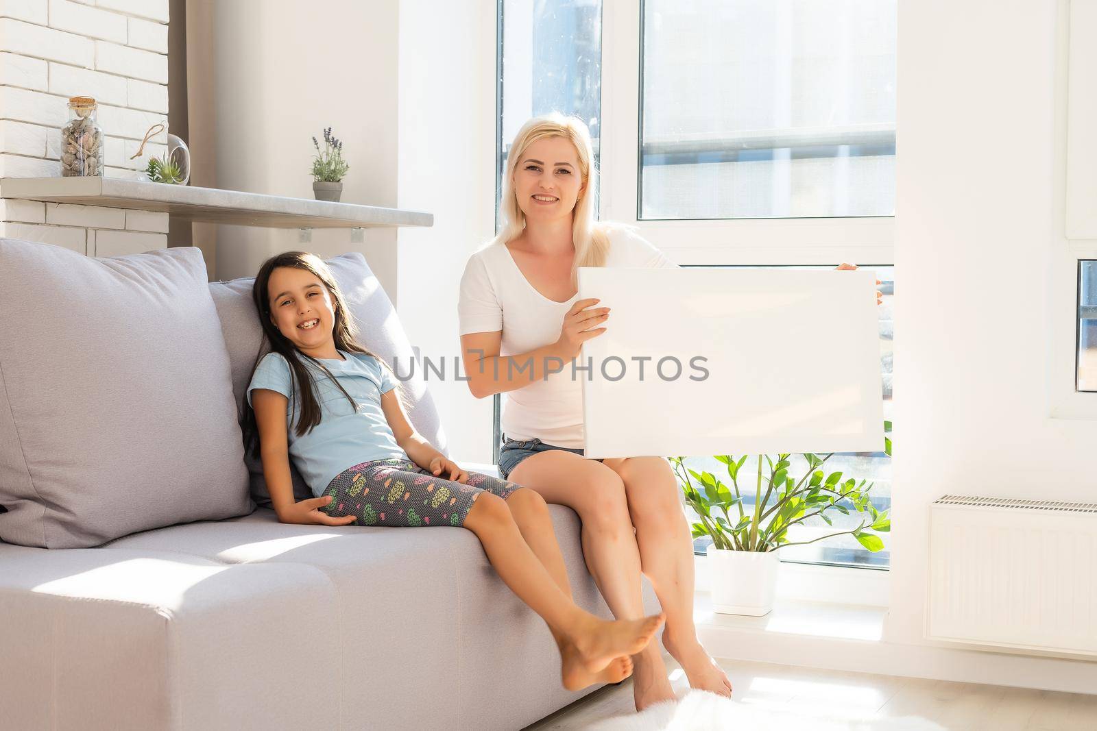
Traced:
POLYGON ((559 339, 527 353, 499 355, 502 331, 471 332, 461 336, 461 358, 468 378, 468 390, 477 399, 493 393, 513 391, 544 379, 545 374, 559 373, 579 347, 591 338, 606 332, 593 328, 609 317, 608 307, 591 307, 598 299, 580 299, 572 306, 561 323, 559 339))

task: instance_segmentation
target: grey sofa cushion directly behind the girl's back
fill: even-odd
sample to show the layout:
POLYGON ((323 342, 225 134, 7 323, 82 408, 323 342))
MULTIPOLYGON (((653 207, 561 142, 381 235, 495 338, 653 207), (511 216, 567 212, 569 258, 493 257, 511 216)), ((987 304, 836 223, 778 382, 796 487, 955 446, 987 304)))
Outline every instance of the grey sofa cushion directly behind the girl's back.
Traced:
MULTIPOLYGON (((422 377, 422 368, 416 364, 411 378, 414 351, 407 334, 396 317, 396 310, 388 295, 382 288, 377 277, 360 252, 340 254, 326 260, 328 267, 339 283, 347 306, 354 316, 359 329, 359 342, 383 357, 388 365, 395 366, 402 377, 402 386, 410 403, 408 420, 416 431, 428 442, 449 456, 445 433, 438 416, 438 408, 430 398, 427 384, 422 377)), ((259 324, 259 313, 251 301, 251 286, 256 278, 241 277, 229 282, 211 282, 210 293, 217 306, 220 327, 228 346, 228 357, 233 367, 233 392, 236 396, 237 412, 242 419, 245 408, 245 391, 251 382, 251 374, 259 358, 267 353, 268 345, 263 342, 262 327, 259 324)), ((267 481, 263 479, 263 466, 258 458, 246 456, 251 481, 251 496, 259 505, 271 505, 267 481)), ((297 468, 290 462, 290 475, 293 478, 293 495, 295 500, 313 498, 312 490, 305 483, 297 468)))

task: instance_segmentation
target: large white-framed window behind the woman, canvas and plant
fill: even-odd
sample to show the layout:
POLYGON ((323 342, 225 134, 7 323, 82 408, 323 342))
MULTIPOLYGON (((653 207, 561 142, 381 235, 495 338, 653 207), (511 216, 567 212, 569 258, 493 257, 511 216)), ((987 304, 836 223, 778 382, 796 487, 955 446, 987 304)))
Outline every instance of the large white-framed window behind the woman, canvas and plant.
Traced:
MULTIPOLYGON (((637 225, 683 265, 877 262, 867 269, 883 282, 891 420, 896 4, 498 0, 496 201, 514 134, 530 116, 555 110, 590 127, 599 217, 637 225)), ((1097 297, 1089 301, 1097 311, 1097 297)), ((1087 342, 1097 349, 1097 330, 1087 342)), ((1097 355, 1092 379, 1097 389, 1097 355)), ((500 401, 497 395, 496 458, 500 401)), ((723 466, 709 461, 703 469, 719 473, 723 466)), ((884 454, 835 455, 832 465, 874 482, 874 506, 890 507, 884 454)), ((852 511, 833 519, 837 530, 857 525, 852 511)), ((828 527, 796 526, 795 540, 821 535, 819 526, 828 527)), ((703 539, 695 549, 703 552, 703 539)), ((889 563, 886 549, 872 553, 850 536, 781 553, 889 563)))

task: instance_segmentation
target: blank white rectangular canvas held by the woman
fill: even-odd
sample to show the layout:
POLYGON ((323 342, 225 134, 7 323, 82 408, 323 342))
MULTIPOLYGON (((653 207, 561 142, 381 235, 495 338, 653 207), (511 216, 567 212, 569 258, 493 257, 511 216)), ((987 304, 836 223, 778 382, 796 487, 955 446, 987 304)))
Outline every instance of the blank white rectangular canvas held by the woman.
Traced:
POLYGON ((584 266, 578 285, 612 309, 577 358, 587 457, 883 450, 872 272, 584 266))

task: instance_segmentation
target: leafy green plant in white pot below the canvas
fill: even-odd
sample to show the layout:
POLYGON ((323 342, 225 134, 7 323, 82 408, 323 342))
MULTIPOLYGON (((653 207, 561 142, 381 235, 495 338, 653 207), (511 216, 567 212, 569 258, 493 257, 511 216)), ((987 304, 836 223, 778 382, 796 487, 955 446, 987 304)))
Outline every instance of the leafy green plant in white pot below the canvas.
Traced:
MULTIPOLYGON (((891 432, 890 421, 884 422, 884 432, 891 432)), ((892 442, 887 436, 884 437, 884 450, 891 457, 892 442)), ((823 468, 833 453, 802 455, 807 469, 799 479, 790 473, 791 454, 778 454, 776 459, 759 455, 757 475, 753 476, 755 500, 749 512, 744 509, 738 483, 739 477, 746 477, 740 470, 748 456, 739 459, 733 455, 714 457, 727 468, 731 488, 712 472, 698 473, 689 469, 685 457, 670 458, 686 502, 699 517, 692 525, 693 537, 712 538, 705 563, 715 612, 759 616, 772 609, 779 564, 777 549, 782 546, 813 544, 849 534, 870 551, 884 547, 875 533, 891 529, 889 511, 878 511, 872 504, 869 495, 872 482, 866 484, 864 480, 858 482, 855 478, 842 481, 839 471, 826 473, 823 468), (764 464, 768 473, 764 473, 764 464), (846 502, 870 515, 871 521, 862 518, 856 528, 836 530, 812 540, 789 541, 789 528, 810 517, 817 515, 827 525, 833 525, 828 511, 849 515, 846 502)))

